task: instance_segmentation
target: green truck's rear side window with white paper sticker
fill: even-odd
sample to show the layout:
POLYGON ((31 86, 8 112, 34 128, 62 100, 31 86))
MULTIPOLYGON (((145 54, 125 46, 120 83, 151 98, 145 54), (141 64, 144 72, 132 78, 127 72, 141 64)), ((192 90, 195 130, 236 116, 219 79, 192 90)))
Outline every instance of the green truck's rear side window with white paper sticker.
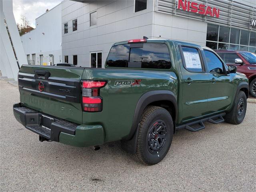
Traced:
POLYGON ((203 72, 198 49, 182 46, 184 67, 190 72, 203 72))

